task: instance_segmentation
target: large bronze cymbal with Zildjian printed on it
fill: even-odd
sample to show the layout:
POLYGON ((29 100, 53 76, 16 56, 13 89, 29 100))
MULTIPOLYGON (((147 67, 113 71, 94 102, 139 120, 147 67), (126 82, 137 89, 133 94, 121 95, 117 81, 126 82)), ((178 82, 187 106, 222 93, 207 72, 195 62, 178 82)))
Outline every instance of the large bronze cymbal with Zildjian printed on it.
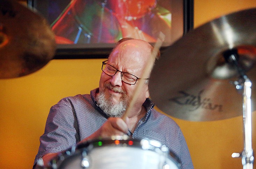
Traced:
POLYGON ((251 80, 251 103, 255 104, 255 27, 256 8, 242 10, 191 30, 168 47, 149 80, 155 105, 170 116, 189 121, 242 115, 243 91, 236 89, 240 74, 226 56, 236 56, 251 80))

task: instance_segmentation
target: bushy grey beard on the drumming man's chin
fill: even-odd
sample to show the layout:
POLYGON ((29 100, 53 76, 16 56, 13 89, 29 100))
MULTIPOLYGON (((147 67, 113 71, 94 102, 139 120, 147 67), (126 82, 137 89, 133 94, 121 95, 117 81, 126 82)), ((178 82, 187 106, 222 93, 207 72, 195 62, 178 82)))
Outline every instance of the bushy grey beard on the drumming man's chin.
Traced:
POLYGON ((114 104, 112 95, 106 98, 104 92, 100 92, 96 97, 96 101, 103 112, 110 117, 122 117, 126 110, 125 98, 121 102, 114 104))

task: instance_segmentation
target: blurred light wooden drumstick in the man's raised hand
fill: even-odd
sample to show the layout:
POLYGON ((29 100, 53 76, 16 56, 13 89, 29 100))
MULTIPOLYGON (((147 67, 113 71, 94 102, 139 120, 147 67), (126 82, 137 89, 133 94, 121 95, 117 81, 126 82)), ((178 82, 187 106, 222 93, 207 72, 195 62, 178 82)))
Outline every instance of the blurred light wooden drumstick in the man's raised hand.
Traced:
MULTIPOLYGON (((149 57, 148 62, 147 62, 146 67, 145 67, 145 70, 144 70, 141 77, 146 77, 150 73, 150 71, 152 69, 152 66, 154 65, 156 55, 158 54, 158 50, 161 47, 161 45, 164 41, 164 38, 165 38, 165 35, 162 32, 160 32, 159 37, 158 37, 158 39, 155 43, 155 46, 153 48, 153 51, 151 53, 151 57, 149 57)), ((139 80, 137 83, 138 84, 137 84, 137 87, 134 90, 134 95, 131 99, 131 102, 130 102, 129 106, 127 107, 126 111, 124 112, 124 114, 122 116, 123 120, 125 120, 131 114, 131 109, 134 106, 135 101, 137 100, 137 98, 140 94, 139 91, 142 89, 143 83, 145 83, 145 82, 142 81, 142 80, 139 80)))

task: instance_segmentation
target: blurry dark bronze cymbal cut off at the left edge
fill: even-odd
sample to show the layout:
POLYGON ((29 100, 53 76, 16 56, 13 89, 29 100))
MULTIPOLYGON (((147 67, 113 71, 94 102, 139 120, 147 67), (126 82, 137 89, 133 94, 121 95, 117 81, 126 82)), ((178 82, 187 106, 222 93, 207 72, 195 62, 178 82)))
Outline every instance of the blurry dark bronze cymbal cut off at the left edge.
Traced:
POLYGON ((14 0, 1 0, 0 9, 0 79, 41 69, 56 49, 46 19, 14 0))

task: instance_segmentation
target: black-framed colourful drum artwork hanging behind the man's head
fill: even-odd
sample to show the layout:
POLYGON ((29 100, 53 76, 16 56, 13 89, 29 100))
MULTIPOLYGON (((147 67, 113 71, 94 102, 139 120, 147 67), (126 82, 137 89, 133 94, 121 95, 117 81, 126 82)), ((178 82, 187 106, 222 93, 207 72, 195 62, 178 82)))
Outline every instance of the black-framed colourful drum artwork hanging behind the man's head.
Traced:
POLYGON ((28 0, 55 34, 55 59, 106 58, 126 37, 156 42, 160 51, 193 28, 192 0, 28 0))

